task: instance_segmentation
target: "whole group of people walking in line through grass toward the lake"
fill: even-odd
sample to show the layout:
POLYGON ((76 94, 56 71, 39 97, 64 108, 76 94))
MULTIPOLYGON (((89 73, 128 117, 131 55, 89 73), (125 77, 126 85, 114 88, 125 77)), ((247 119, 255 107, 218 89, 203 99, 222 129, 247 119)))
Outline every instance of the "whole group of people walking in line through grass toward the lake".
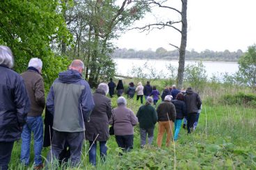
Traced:
MULTIPOLYGON (((158 122, 159 133, 157 145, 161 147, 163 134, 167 133, 166 146, 173 137, 176 141, 182 119, 186 117, 188 133, 191 133, 202 101, 191 88, 186 93, 173 94, 164 90, 163 101, 156 107, 159 91, 150 82, 143 87, 139 82, 129 84, 128 97, 137 92, 137 100, 143 96, 146 102, 138 109, 137 114, 127 108, 127 100, 123 93, 122 80, 119 80, 117 108, 111 106, 115 83, 100 83, 92 94, 90 85, 82 78, 84 69, 81 60, 73 60, 67 71, 58 74, 51 85, 45 101, 45 88, 42 74, 42 60, 31 58, 27 70, 21 75, 13 67, 13 54, 7 46, 0 46, 0 169, 8 169, 13 144, 22 138, 20 161, 29 166, 31 133, 34 140, 34 169, 50 166, 52 160, 62 161, 62 153, 69 148, 68 159, 75 167, 81 162, 83 139, 89 141, 89 162, 96 165, 97 142, 99 142, 100 158, 106 158, 106 142, 109 139, 109 125, 113 126, 115 141, 123 151, 130 151, 134 142, 134 126, 139 124, 141 148, 152 144, 154 126, 158 122), (130 92, 130 91, 133 92, 130 92), (166 92, 165 92, 166 91, 166 92), (153 96, 153 97, 151 97, 153 96), (45 109, 46 105, 46 109, 45 109), (45 109, 45 136, 43 135, 42 112, 45 109), (47 116, 48 115, 48 116, 47 116), (47 135, 48 134, 48 135, 47 135), (44 140, 45 137, 45 140, 44 140), (48 138, 48 139, 47 139, 48 138), (50 140, 50 142, 47 142, 50 140), (46 144, 47 143, 47 144, 46 144), (49 146, 45 165, 42 162, 42 146, 49 146)), ((176 89, 173 86, 173 89, 176 89)))

